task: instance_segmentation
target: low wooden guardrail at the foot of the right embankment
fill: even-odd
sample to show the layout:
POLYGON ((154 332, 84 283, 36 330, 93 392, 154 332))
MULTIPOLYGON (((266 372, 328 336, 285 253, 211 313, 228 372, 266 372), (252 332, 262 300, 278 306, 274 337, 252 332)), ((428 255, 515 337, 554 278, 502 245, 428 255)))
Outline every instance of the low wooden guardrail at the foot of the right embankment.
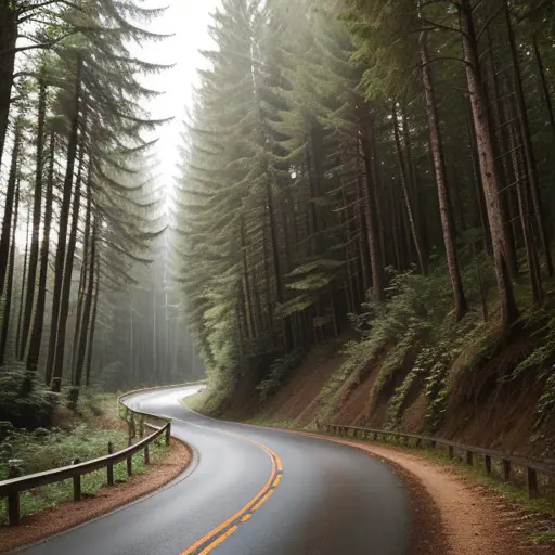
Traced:
POLYGON ((431 449, 436 449, 438 446, 443 446, 447 447, 450 459, 455 456, 455 451, 463 452, 464 460, 469 466, 474 465, 475 455, 483 456, 486 473, 488 475, 491 475, 492 473, 492 461, 499 461, 502 467, 503 479, 506 481, 511 479, 513 466, 521 467, 526 473, 526 483, 530 499, 540 496, 540 489, 538 486, 539 474, 543 474, 550 477, 555 476, 555 464, 537 459, 528 459, 526 456, 511 455, 501 451, 494 451, 492 449, 465 446, 464 443, 457 443, 456 441, 450 441, 447 439, 418 436, 416 434, 404 434, 402 431, 343 426, 339 424, 324 424, 323 428, 328 434, 336 434, 339 436, 352 438, 371 439, 372 441, 379 441, 380 439, 387 441, 388 438, 398 438, 406 446, 409 444, 410 440, 415 440, 415 447, 428 444, 431 449))

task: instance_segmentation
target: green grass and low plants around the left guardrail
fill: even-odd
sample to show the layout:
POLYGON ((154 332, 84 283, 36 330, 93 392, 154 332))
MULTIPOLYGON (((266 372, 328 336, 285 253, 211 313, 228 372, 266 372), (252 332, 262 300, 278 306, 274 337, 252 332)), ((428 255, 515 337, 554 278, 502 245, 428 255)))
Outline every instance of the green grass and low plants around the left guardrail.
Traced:
MULTIPOLYGON (((20 461, 23 474, 49 470, 73 463, 81 462, 107 454, 108 442, 114 451, 128 444, 128 434, 124 428, 95 428, 94 423, 102 416, 105 424, 117 421, 116 397, 101 395, 83 399, 79 406, 80 416, 76 422, 64 422, 64 428, 52 430, 39 429, 34 433, 15 431, 8 441, 0 443, 0 480, 8 477, 9 461, 20 461)), ((67 415, 65 415, 67 421, 67 415)), ((151 463, 160 461, 168 448, 160 441, 151 443, 151 463)), ((142 452, 135 453, 132 460, 133 474, 143 474, 147 467, 143 462, 142 452)), ((114 466, 114 480, 121 483, 128 480, 126 462, 114 466)), ((81 477, 83 496, 93 496, 106 486, 106 470, 96 470, 81 477)), ((55 507, 73 499, 73 481, 42 486, 34 491, 22 492, 21 514, 29 516, 47 508, 55 507)), ((0 503, 0 526, 8 524, 7 503, 0 503)))

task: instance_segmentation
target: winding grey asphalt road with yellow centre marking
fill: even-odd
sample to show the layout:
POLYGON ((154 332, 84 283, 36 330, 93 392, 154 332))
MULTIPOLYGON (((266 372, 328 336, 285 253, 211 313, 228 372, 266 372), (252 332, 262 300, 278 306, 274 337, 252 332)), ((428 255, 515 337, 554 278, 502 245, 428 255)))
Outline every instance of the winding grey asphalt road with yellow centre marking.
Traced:
POLYGON ((383 463, 331 441, 206 418, 180 399, 141 393, 194 448, 186 476, 26 555, 408 555, 410 506, 383 463))

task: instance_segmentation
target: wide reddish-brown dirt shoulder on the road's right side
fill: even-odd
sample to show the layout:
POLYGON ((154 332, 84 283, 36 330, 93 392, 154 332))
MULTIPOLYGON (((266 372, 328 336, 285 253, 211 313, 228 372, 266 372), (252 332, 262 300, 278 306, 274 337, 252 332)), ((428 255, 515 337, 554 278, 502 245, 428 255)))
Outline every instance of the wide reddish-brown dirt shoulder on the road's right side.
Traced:
POLYGON ((411 492, 415 555, 555 554, 554 544, 530 545, 530 515, 449 467, 395 448, 317 437, 361 449, 401 476, 411 492))

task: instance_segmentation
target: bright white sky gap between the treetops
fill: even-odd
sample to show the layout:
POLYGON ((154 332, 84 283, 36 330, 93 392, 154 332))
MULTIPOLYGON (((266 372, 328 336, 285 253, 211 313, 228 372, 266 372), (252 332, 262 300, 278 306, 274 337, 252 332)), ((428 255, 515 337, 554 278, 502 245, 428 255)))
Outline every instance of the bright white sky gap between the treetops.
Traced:
POLYGON ((207 28, 210 14, 219 3, 220 0, 145 0, 142 3, 147 8, 168 5, 165 14, 153 22, 149 30, 173 35, 159 42, 131 47, 132 53, 146 62, 176 64, 171 69, 145 78, 147 87, 165 92, 150 101, 145 107, 155 119, 175 118, 157 133, 157 173, 165 180, 168 190, 177 175, 183 116, 192 104, 192 88, 197 83, 197 70, 206 66, 198 50, 212 47, 207 28))

